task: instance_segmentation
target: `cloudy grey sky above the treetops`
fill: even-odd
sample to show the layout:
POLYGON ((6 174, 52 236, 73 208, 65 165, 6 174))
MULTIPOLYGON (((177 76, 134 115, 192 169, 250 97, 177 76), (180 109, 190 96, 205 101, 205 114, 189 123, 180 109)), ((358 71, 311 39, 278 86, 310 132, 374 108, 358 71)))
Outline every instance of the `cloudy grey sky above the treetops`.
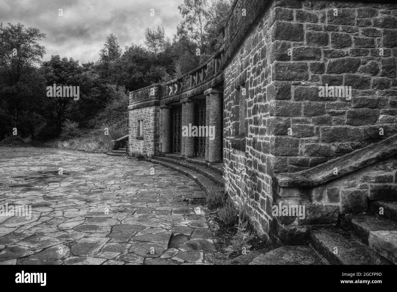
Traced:
POLYGON ((44 60, 51 55, 72 57, 85 63, 98 60, 106 36, 118 37, 121 49, 142 44, 145 29, 164 27, 172 37, 181 16, 183 0, 0 0, 0 22, 18 22, 46 34, 44 60), (150 16, 150 9, 154 16, 150 16), (58 10, 63 16, 58 16, 58 10))

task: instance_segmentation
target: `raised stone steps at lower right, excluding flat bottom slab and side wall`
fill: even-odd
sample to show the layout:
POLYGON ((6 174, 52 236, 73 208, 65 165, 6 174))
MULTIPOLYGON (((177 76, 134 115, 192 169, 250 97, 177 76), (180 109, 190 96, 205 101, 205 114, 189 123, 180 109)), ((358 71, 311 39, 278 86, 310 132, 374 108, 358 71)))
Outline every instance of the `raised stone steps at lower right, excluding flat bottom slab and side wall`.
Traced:
POLYGON ((339 228, 310 232, 310 244, 337 265, 397 264, 397 202, 372 201, 370 211, 340 216, 339 228), (380 209, 384 214, 380 215, 380 209))

